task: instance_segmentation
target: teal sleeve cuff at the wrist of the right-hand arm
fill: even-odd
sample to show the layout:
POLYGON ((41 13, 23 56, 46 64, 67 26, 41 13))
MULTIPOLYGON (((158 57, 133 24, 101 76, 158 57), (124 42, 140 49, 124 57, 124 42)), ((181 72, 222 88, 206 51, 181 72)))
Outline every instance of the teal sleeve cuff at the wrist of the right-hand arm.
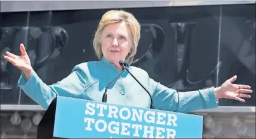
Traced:
POLYGON ((201 95, 203 95, 203 97, 205 98, 206 109, 212 109, 219 106, 219 100, 215 99, 213 89, 214 87, 199 90, 201 92, 201 95))

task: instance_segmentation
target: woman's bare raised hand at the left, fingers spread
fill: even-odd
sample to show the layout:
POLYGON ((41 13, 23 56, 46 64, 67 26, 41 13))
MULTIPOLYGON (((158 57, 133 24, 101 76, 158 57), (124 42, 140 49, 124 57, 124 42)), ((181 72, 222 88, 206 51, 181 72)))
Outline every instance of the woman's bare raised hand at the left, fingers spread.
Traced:
POLYGON ((24 71, 27 80, 29 80, 32 71, 32 66, 30 63, 29 56, 27 55, 27 52, 25 51, 25 47, 23 44, 20 44, 20 52, 22 53, 21 56, 11 54, 11 52, 6 52, 7 56, 4 56, 4 59, 6 59, 11 64, 16 66, 18 69, 24 71))

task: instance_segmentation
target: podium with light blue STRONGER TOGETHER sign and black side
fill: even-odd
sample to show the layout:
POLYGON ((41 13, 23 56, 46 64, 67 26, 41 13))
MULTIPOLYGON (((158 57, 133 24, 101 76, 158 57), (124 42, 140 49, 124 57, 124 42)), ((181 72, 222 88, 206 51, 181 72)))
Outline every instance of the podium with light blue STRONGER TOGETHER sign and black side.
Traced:
POLYGON ((37 127, 37 139, 202 136, 203 116, 60 96, 37 127))

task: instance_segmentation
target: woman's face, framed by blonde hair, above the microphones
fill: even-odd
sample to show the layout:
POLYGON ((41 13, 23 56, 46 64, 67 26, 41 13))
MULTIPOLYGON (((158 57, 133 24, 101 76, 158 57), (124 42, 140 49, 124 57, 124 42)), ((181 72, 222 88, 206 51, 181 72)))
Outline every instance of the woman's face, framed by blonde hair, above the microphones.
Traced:
POLYGON ((131 49, 130 30, 126 23, 111 23, 106 25, 102 33, 102 53, 111 63, 125 61, 131 49))

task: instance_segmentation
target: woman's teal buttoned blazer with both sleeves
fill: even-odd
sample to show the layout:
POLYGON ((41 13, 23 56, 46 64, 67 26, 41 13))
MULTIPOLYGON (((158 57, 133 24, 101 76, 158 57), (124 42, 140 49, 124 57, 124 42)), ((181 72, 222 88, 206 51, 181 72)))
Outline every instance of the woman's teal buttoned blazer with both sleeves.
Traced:
MULTIPOLYGON (((213 94, 213 87, 191 92, 177 92, 151 79, 143 69, 128 66, 128 70, 149 90, 154 109, 191 112, 219 106, 213 94)), ((18 87, 22 88, 25 94, 44 109, 47 109, 51 100, 58 95, 101 102, 107 83, 120 72, 114 64, 102 57, 100 61, 77 64, 69 76, 53 85, 46 85, 35 71, 32 71, 29 80, 22 73, 18 80, 18 87)), ((109 86, 107 103, 149 108, 151 99, 147 92, 125 71, 109 86)))

